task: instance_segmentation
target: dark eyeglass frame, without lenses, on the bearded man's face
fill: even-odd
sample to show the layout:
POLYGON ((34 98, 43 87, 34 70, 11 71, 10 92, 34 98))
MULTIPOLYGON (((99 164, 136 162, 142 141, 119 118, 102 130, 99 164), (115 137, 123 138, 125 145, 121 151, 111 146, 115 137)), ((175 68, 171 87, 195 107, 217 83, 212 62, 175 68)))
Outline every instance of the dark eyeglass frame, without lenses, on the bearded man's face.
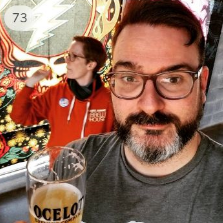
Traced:
POLYGON ((135 96, 135 97, 131 97, 131 98, 126 98, 126 97, 123 97, 123 96, 119 96, 115 93, 115 91, 113 90, 112 87, 110 87, 111 89, 111 92, 117 97, 117 98, 120 98, 120 99, 125 99, 125 100, 133 100, 133 99, 136 99, 138 97, 140 97, 145 89, 145 85, 146 85, 146 82, 148 80, 151 80, 153 82, 153 86, 155 87, 156 89, 156 92, 164 99, 168 99, 168 100, 179 100, 179 99, 183 99, 183 98, 186 98, 188 95, 191 94, 192 90, 193 90, 193 87, 194 87, 194 82, 199 78, 200 74, 202 72, 202 66, 199 66, 198 70, 197 71, 187 71, 187 70, 173 70, 173 71, 166 71, 166 72, 161 72, 161 73, 158 73, 158 74, 154 74, 154 75, 150 75, 150 74, 143 74, 143 73, 138 73, 138 72, 135 72, 135 71, 116 71, 116 72, 109 72, 107 74, 105 74, 105 77, 104 77, 104 80, 105 82, 108 82, 109 86, 111 86, 111 77, 114 76, 116 73, 121 73, 121 74, 125 74, 125 73, 132 73, 134 75, 138 75, 138 76, 141 76, 142 79, 143 79, 143 86, 142 86, 142 90, 141 92, 135 96), (188 94, 182 96, 182 97, 176 97, 176 98, 170 98, 170 97, 167 97, 165 95, 162 94, 162 92, 160 92, 160 90, 157 88, 157 84, 156 84, 156 80, 157 78, 160 76, 160 75, 163 75, 163 74, 170 74, 170 73, 175 73, 175 72, 184 72, 184 73, 188 73, 191 77, 192 77, 192 80, 193 80, 193 84, 191 85, 191 89, 190 91, 188 92, 188 94))

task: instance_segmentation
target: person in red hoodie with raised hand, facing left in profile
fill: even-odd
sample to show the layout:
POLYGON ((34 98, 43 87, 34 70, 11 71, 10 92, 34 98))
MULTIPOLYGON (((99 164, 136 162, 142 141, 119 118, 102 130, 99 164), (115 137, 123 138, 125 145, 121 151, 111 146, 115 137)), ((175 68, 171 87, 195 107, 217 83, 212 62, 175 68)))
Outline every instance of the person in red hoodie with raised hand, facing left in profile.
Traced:
POLYGON ((34 125, 47 119, 51 127, 48 146, 66 145, 89 134, 111 131, 113 111, 110 93, 97 74, 106 58, 100 41, 75 36, 65 54, 66 83, 50 87, 33 99, 34 85, 51 72, 38 70, 27 79, 26 86, 16 96, 12 120, 22 125, 34 125))

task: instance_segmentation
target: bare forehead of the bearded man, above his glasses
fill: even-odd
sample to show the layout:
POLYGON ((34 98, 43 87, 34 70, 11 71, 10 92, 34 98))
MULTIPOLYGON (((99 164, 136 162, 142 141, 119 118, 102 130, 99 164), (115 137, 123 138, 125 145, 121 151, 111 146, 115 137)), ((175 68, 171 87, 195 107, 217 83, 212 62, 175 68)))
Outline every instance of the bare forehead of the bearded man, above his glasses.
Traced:
MULTIPOLYGON (((197 67, 199 51, 193 43, 187 46, 186 30, 147 24, 126 26, 113 49, 113 66, 163 67, 187 64, 197 67)), ((162 68, 161 68, 162 67, 162 68)))

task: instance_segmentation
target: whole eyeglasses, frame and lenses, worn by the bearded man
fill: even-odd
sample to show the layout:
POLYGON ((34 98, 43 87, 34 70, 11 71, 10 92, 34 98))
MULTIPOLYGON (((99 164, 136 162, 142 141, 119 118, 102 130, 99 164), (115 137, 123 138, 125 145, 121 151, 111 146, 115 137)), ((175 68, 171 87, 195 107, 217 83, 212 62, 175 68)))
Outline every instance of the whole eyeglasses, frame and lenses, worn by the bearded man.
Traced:
POLYGON ((138 98, 144 91, 146 82, 151 80, 157 93, 169 100, 186 98, 193 89, 195 80, 201 74, 197 72, 175 70, 146 75, 133 71, 116 71, 105 75, 112 93, 121 99, 131 100, 138 98))

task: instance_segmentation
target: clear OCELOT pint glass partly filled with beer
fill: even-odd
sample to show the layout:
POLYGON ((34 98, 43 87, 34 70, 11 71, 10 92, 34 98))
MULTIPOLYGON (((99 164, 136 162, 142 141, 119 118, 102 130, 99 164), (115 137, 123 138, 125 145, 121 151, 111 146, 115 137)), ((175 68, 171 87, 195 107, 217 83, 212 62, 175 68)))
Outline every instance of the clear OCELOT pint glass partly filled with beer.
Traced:
POLYGON ((31 223, 80 223, 84 208, 86 161, 76 149, 54 146, 27 162, 31 223))

